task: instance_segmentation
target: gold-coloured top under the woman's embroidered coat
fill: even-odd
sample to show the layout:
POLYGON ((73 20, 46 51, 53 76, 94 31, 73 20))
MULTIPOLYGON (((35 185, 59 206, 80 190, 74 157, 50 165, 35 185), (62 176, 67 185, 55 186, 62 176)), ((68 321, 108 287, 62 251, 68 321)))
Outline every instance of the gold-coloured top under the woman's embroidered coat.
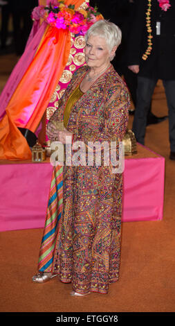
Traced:
POLYGON ((69 96, 68 101, 66 103, 66 108, 64 111, 64 127, 66 128, 68 124, 68 119, 71 113, 71 108, 73 105, 79 100, 79 98, 83 95, 84 93, 81 91, 79 85, 74 89, 72 92, 71 96, 69 96))

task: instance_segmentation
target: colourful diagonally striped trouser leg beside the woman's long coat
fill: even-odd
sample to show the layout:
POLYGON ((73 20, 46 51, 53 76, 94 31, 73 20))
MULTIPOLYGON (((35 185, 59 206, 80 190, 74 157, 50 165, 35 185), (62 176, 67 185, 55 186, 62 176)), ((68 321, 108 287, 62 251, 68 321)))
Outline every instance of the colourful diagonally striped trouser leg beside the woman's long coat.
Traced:
POLYGON ((63 166, 55 166, 50 185, 44 234, 39 250, 38 271, 51 272, 55 241, 63 205, 63 166))

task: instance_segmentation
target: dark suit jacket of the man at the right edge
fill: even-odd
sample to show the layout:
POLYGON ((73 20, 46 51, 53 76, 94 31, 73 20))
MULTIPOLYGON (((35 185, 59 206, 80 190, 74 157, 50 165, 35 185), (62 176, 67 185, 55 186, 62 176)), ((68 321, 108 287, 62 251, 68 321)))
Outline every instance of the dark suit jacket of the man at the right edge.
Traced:
POLYGON ((139 76, 175 79, 175 1, 170 0, 166 12, 161 10, 157 0, 151 1, 152 50, 147 60, 142 54, 147 49, 146 11, 147 0, 138 1, 127 51, 127 64, 140 65, 139 76), (156 22, 160 22, 160 35, 156 35, 156 22))

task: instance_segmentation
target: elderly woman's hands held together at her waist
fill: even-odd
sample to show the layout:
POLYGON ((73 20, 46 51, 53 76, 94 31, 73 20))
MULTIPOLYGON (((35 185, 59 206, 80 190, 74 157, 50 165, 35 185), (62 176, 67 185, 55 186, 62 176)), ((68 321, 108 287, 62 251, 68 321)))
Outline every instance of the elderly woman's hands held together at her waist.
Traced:
POLYGON ((47 132, 48 139, 52 141, 61 141, 62 144, 66 144, 66 137, 73 137, 73 134, 64 128, 64 131, 59 131, 53 123, 48 123, 47 132))

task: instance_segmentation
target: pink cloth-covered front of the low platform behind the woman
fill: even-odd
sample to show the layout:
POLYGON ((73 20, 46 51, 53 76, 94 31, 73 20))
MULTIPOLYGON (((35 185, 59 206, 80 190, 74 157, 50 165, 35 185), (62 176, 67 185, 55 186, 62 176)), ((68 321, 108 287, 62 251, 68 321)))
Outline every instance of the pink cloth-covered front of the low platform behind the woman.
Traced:
MULTIPOLYGON (((0 169, 0 231, 43 228, 53 169, 50 162, 1 162, 0 169)), ((164 157, 126 158, 123 222, 163 218, 164 170, 164 157)))

